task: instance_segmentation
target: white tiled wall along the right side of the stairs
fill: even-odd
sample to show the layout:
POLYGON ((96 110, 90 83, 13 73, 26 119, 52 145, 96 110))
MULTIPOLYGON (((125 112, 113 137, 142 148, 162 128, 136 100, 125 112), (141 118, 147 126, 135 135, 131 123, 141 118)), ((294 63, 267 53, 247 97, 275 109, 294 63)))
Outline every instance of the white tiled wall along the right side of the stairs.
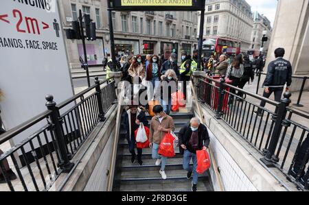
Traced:
MULTIPOLYGON (((231 158, 227 150, 216 139, 214 134, 210 130, 208 131, 211 138, 211 149, 214 153, 216 163, 220 167, 220 176, 225 191, 258 191, 233 158, 231 158)), ((210 173, 211 180, 214 183, 214 190, 220 191, 213 168, 211 167, 210 173)))

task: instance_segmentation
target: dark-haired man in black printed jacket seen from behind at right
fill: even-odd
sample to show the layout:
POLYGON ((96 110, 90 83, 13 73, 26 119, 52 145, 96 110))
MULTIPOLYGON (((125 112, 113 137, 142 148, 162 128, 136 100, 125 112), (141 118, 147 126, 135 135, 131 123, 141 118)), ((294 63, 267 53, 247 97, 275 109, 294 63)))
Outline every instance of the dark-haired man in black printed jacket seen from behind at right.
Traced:
MULTIPOLYGON (((276 60, 268 64, 268 71, 264 81, 263 97, 269 98, 271 93, 275 94, 275 101, 280 101, 284 86, 286 85, 286 92, 290 91, 290 84, 292 84, 292 65, 284 57, 285 51, 283 48, 275 49, 276 60)), ((262 101, 260 106, 264 107, 265 101, 262 101)), ((256 111, 258 115, 262 115, 262 109, 256 111)))

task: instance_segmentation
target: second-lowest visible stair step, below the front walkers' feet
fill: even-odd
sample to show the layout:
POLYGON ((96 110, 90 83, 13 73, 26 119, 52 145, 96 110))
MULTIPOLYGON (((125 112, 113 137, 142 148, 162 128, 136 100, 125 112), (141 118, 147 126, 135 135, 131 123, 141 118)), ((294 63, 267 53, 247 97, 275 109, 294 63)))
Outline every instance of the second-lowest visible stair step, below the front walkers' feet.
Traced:
MULTIPOLYGON (((121 181, 149 181, 149 180, 162 180, 161 174, 159 173, 160 167, 148 167, 145 169, 133 169, 132 171, 123 170, 121 174, 121 181)), ((166 167, 165 169, 166 176, 168 177, 166 180, 179 180, 179 179, 187 179, 187 171, 183 169, 172 169, 172 167, 166 167)), ((203 178, 207 176, 207 174, 203 174, 198 176, 199 178, 203 178)))

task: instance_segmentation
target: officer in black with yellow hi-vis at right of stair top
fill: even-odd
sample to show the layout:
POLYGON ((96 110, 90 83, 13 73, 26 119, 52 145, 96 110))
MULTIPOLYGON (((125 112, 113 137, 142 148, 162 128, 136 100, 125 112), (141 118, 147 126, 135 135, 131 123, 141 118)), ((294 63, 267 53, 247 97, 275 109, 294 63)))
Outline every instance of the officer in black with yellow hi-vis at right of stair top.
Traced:
POLYGON ((191 71, 192 71, 192 59, 190 55, 187 55, 186 51, 181 53, 181 68, 180 68, 180 76, 181 82, 183 83, 183 94, 185 95, 185 99, 187 99, 187 82, 190 81, 191 71))

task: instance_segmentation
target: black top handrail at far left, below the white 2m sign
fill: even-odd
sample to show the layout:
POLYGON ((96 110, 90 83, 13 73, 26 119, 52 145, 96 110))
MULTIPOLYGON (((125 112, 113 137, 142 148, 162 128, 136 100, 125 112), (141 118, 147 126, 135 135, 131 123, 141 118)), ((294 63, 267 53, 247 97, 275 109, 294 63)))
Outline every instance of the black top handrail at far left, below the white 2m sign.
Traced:
POLYGON ((12 128, 11 130, 8 130, 7 132, 1 134, 0 136, 0 145, 2 143, 5 143, 6 141, 9 141, 11 138, 16 136, 17 134, 20 134, 21 132, 27 130, 28 128, 32 127, 32 125, 35 125, 39 121, 49 117, 49 114, 51 114, 51 110, 46 110, 45 112, 42 112, 41 114, 38 114, 36 117, 25 121, 24 123, 21 123, 21 125, 16 126, 15 128, 12 128))

